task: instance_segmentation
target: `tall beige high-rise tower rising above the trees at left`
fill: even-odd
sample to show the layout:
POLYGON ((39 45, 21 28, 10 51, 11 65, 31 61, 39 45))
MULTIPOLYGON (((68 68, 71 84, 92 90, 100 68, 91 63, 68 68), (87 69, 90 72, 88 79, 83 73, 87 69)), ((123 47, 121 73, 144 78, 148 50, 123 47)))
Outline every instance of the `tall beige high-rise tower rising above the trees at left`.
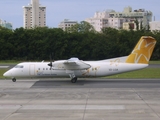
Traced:
POLYGON ((23 27, 34 28, 46 26, 46 7, 39 0, 31 0, 31 4, 23 6, 23 27))

